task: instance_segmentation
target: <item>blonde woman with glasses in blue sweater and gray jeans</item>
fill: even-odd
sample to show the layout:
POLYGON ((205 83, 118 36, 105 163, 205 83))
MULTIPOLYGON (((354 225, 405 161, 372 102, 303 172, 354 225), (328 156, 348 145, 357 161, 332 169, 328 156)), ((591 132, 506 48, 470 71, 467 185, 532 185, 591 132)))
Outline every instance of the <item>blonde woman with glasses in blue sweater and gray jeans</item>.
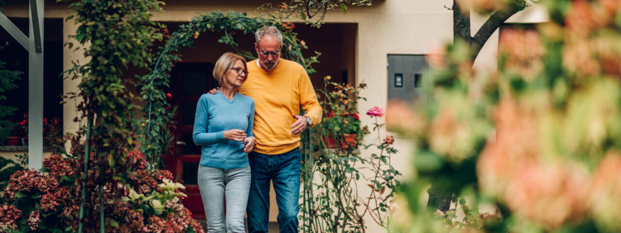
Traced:
POLYGON ((203 94, 196 106, 193 138, 194 144, 202 145, 198 186, 209 233, 245 232, 243 217, 250 188, 248 152, 256 144, 252 133, 255 101, 237 93, 247 77, 245 59, 224 53, 214 67, 220 90, 203 94))

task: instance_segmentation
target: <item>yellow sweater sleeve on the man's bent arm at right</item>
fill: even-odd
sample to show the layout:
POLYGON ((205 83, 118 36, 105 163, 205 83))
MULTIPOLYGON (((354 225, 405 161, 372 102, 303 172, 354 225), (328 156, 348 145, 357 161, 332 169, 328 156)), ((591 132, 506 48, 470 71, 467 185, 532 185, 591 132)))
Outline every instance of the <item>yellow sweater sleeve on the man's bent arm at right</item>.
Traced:
POLYGON ((300 104, 304 112, 306 112, 304 116, 311 117, 312 124, 310 127, 317 126, 321 121, 321 116, 324 111, 319 105, 319 101, 317 101, 317 94, 315 94, 315 89, 312 87, 311 78, 309 78, 309 75, 304 69, 302 69, 299 88, 300 104))

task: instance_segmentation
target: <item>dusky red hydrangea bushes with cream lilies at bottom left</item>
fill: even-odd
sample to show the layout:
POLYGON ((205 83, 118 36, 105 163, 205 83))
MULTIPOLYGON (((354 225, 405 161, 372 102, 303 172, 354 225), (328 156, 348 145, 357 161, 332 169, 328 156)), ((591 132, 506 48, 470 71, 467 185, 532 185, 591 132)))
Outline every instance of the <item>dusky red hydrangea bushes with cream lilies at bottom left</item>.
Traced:
MULTIPOLYGON (((171 181, 170 171, 145 170, 147 162, 137 150, 129 154, 127 163, 132 169, 130 182, 116 184, 124 190, 124 198, 110 198, 115 183, 101 185, 106 197, 106 231, 202 232, 191 212, 181 204, 184 186, 171 181)), ((0 193, 0 231, 77 231, 83 177, 80 167, 77 157, 52 154, 43 160, 45 173, 35 170, 13 173, 0 193)), ((89 171, 94 172, 97 171, 89 171)))

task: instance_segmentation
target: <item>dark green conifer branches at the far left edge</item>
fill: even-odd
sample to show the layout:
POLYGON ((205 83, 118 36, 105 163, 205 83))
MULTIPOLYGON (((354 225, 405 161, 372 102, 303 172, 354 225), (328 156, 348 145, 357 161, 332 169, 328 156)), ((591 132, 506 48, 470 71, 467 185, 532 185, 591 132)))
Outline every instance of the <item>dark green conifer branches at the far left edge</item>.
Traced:
MULTIPOLYGON (((6 96, 2 93, 10 89, 17 88, 15 81, 19 80, 22 75, 21 71, 11 71, 4 68, 6 63, 0 61, 0 101, 6 100, 6 96)), ((11 122, 6 119, 13 115, 13 112, 17 110, 17 107, 4 106, 0 104, 0 144, 4 143, 7 137, 11 136, 11 129, 16 125, 15 122, 11 122)))

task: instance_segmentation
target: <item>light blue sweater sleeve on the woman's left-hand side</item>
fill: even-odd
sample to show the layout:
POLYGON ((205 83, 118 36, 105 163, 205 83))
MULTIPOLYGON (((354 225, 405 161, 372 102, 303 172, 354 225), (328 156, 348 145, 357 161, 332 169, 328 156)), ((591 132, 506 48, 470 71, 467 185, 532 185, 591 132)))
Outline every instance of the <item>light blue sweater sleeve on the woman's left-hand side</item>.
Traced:
POLYGON ((207 101, 207 96, 203 94, 196 105, 194 132, 192 134, 194 144, 196 145, 211 145, 225 140, 224 131, 211 133, 207 132, 207 125, 209 124, 208 104, 209 101, 207 101))

